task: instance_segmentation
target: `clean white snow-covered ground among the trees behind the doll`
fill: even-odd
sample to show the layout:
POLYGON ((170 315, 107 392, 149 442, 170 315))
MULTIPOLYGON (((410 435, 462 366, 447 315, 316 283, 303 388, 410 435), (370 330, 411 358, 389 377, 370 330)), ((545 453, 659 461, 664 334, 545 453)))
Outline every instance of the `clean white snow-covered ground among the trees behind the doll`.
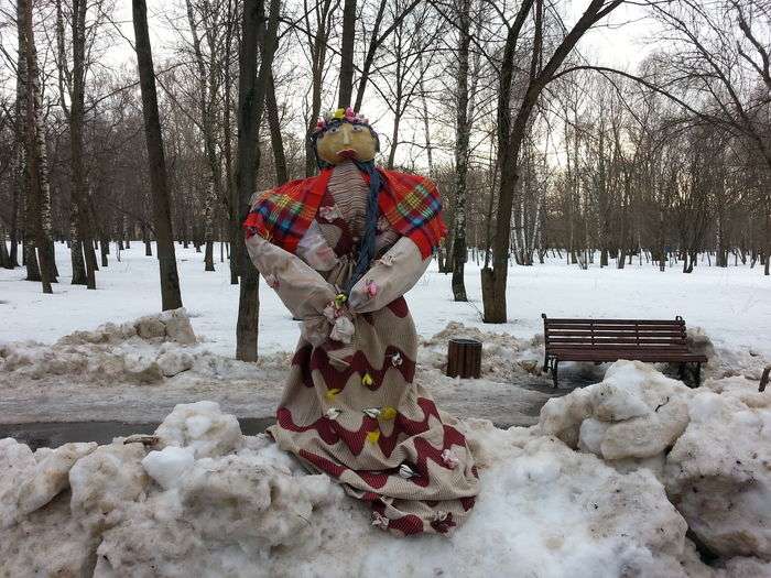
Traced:
MULTIPOLYGON (((219 247, 215 255, 219 257, 219 247)), ((88 292, 69 285, 69 254, 56 247, 61 283, 53 296, 44 296, 36 283, 21 283, 23 269, 0 270, 0 343, 34 339, 52 343, 77 329, 122 323, 158 313, 161 304, 155 259, 144 257, 144 246, 134 242, 110 255, 110 265, 97 277, 98 290, 88 292)), ((182 298, 193 317, 196 335, 206 339, 215 353, 232 357, 238 287, 230 285, 226 263, 216 263, 215 273, 204 272, 203 254, 177 246, 182 298)), ((634 261, 627 269, 587 271, 563 261, 550 260, 532 268, 509 271, 509 323, 481 324, 479 270, 467 265, 468 304, 452 299, 449 276, 433 264, 409 294, 417 330, 428 337, 449 321, 493 331, 506 331, 529 339, 542 331, 541 313, 552 317, 638 317, 674 318, 682 315, 689 327, 702 327, 719 347, 753 350, 771 359, 771 279, 758 268, 706 266, 685 275, 675 266, 664 273, 634 261)), ((260 350, 263 353, 291 351, 300 335, 275 294, 260 286, 260 350)))

